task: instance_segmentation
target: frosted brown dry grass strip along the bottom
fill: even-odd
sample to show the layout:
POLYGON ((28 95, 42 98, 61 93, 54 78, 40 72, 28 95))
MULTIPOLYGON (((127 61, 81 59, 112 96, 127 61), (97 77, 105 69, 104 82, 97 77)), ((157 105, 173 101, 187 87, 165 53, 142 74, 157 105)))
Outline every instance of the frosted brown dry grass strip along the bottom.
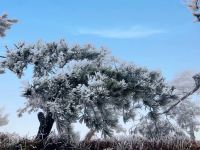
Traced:
POLYGON ((178 137, 160 139, 129 137, 76 142, 50 136, 46 141, 41 142, 0 133, 1 150, 197 150, 198 148, 200 149, 198 143, 178 137))

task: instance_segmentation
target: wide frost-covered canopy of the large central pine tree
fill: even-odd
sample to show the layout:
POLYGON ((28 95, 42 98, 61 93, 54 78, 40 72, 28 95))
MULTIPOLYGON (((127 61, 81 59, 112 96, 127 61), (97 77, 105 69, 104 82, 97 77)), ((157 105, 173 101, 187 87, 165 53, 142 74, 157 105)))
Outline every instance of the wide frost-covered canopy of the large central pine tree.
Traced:
POLYGON ((60 134, 70 135, 72 123, 79 121, 111 136, 119 116, 124 122, 134 120, 140 106, 146 107, 149 118, 158 120, 200 86, 197 76, 195 89, 179 97, 159 72, 117 62, 105 49, 70 47, 63 40, 21 43, 5 57, 1 70, 9 69, 19 78, 28 65, 33 68, 32 81, 23 92, 27 103, 20 114, 38 109, 51 112, 60 134), (175 100, 176 104, 167 105, 175 100))

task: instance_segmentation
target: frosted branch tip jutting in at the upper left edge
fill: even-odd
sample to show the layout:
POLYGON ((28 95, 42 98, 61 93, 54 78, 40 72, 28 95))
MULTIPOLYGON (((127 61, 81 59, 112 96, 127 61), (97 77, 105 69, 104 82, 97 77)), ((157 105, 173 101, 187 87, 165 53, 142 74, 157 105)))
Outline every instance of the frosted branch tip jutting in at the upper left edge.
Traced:
POLYGON ((7 14, 0 16, 0 37, 5 36, 5 31, 17 22, 16 19, 8 19, 7 14))

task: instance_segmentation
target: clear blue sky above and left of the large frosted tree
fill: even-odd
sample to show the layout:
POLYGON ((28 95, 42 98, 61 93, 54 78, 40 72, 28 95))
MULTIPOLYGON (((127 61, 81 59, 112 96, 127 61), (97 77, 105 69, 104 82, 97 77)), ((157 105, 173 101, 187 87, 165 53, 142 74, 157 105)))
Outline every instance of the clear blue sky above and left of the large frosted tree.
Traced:
MULTIPOLYGON (((200 24, 193 22, 183 0, 0 0, 4 12, 19 22, 0 39, 2 55, 5 45, 19 41, 64 38, 70 45, 104 46, 122 60, 161 71, 167 80, 184 70, 200 70, 200 24)), ((0 76, 0 104, 10 114, 10 123, 0 131, 34 135, 36 116, 19 119, 15 113, 25 102, 22 80, 10 72, 0 76)))

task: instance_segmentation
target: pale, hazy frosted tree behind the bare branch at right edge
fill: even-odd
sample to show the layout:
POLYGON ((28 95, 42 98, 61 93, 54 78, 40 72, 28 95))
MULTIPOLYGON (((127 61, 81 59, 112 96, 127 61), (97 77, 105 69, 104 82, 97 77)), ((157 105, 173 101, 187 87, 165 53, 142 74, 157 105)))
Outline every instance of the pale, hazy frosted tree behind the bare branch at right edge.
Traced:
MULTIPOLYGON (((191 80, 194 71, 184 71, 180 73, 171 84, 174 85, 175 91, 179 95, 184 95, 190 89, 194 88, 194 80, 191 80)), ((196 92, 197 96, 200 94, 200 90, 196 92)), ((200 116, 200 106, 190 99, 186 99, 180 105, 175 107, 171 113, 174 116, 177 124, 187 130, 191 140, 195 141, 195 131, 199 130, 200 122, 198 117, 200 116)))

